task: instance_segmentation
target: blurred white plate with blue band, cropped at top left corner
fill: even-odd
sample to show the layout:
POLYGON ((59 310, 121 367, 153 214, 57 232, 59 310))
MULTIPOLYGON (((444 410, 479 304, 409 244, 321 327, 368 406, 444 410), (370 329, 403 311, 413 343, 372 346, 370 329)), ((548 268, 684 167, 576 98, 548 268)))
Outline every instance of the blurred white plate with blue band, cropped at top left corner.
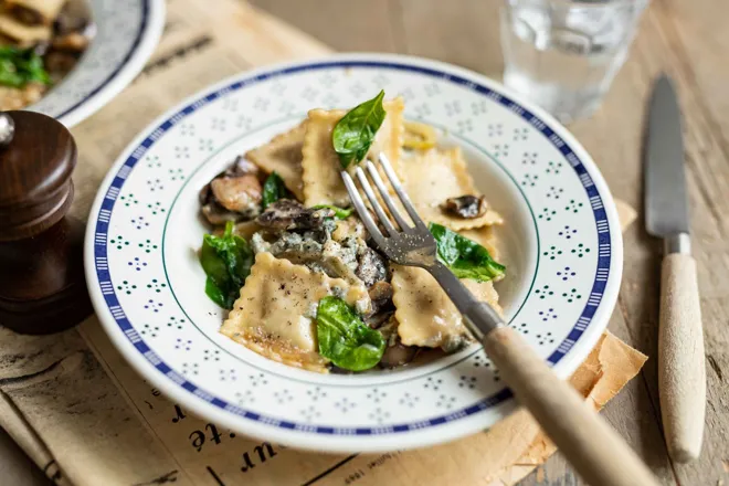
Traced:
POLYGON ((107 104, 139 74, 165 25, 165 0, 87 1, 96 34, 74 70, 32 112, 72 127, 107 104))

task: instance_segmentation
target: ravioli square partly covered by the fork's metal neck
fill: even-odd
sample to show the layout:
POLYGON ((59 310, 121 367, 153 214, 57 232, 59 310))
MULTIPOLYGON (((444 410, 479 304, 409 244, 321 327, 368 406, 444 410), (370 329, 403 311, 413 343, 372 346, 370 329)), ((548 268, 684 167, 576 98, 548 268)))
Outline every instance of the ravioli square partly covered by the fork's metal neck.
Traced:
MULTIPOLYGON (((461 282, 479 302, 488 303, 501 314, 492 282, 468 278, 461 282)), ((468 337, 461 313, 427 271, 393 265, 392 290, 398 334, 403 345, 448 347, 468 337)))

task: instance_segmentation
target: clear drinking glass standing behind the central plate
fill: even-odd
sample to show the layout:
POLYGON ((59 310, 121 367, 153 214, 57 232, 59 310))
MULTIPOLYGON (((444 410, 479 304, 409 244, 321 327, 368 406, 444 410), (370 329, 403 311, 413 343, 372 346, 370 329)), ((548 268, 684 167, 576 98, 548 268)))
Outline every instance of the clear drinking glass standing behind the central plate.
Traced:
POLYGON ((590 116, 623 65, 648 0, 505 0, 504 84, 561 123, 590 116))

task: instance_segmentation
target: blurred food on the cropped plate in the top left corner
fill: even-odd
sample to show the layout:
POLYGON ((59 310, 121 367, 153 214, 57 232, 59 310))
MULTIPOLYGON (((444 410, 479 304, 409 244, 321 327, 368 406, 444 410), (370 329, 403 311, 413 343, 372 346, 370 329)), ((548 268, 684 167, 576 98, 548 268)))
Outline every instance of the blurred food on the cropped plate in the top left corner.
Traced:
POLYGON ((0 0, 0 110, 38 102, 78 62, 93 27, 82 0, 0 0))

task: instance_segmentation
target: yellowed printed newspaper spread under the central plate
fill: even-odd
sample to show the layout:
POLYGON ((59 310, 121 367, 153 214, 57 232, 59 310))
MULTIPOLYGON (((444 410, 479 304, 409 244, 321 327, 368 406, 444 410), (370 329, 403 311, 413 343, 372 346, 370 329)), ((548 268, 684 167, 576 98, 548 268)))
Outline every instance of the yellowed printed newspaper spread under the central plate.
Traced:
MULTIPOLYGON (((236 0, 170 0, 159 49, 115 101, 75 127, 71 214, 85 220, 115 158, 159 114, 208 84, 327 47, 236 0)), ((634 218, 628 207, 623 221, 634 218)), ((525 411, 426 450, 327 455, 252 441, 196 418, 134 372, 95 317, 53 336, 0 329, 0 425, 60 485, 511 485, 554 446, 525 411)), ((645 357, 605 334, 572 377, 595 409, 645 357)))

